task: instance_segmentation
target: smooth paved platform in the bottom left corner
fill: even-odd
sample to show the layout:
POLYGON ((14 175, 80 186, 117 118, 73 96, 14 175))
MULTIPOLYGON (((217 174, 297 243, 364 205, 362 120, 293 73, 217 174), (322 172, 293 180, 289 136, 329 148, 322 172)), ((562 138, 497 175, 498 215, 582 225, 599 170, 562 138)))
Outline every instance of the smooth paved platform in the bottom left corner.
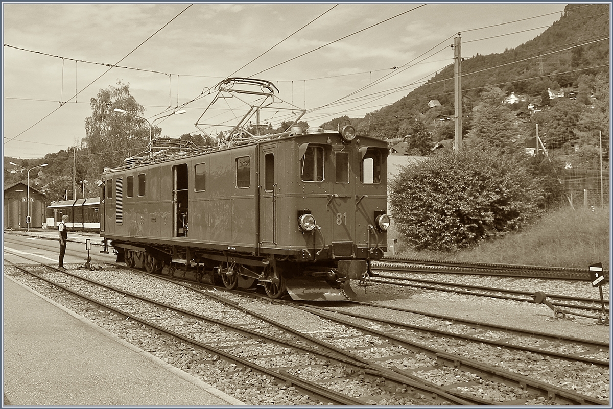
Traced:
POLYGON ((245 405, 3 277, 4 405, 245 405))

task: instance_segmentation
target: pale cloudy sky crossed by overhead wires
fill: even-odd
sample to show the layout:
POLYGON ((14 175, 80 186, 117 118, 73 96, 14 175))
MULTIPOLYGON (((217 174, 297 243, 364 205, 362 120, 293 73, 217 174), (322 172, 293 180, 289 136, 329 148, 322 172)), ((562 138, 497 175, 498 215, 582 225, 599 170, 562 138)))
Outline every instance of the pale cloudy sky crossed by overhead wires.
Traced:
MULTIPOLYGON (((452 64, 457 33, 463 58, 500 53, 541 34, 564 7, 3 2, 3 154, 34 159, 80 146, 90 99, 118 81, 129 84, 144 118, 159 118, 155 126, 173 138, 202 134, 194 124, 204 119, 240 117, 240 111, 208 110, 201 118, 214 86, 230 76, 271 81, 278 97, 307 111, 302 120, 310 126, 343 115, 363 118, 452 64), (173 108, 186 113, 162 118, 173 108)), ((270 118, 275 127, 277 119, 270 118)))

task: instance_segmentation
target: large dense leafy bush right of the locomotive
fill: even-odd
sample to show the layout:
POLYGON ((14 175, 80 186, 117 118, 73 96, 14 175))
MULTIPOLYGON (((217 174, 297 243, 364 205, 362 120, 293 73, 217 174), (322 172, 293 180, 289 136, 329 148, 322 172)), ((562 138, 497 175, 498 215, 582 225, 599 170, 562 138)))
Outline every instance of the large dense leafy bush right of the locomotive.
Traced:
MULTIPOLYGON (((524 228, 552 203, 552 176, 524 155, 465 148, 406 165, 390 183, 397 230, 417 250, 455 251, 524 228)), ((548 168, 549 169, 549 168, 548 168)), ((549 170, 548 170, 549 171, 549 170)))

